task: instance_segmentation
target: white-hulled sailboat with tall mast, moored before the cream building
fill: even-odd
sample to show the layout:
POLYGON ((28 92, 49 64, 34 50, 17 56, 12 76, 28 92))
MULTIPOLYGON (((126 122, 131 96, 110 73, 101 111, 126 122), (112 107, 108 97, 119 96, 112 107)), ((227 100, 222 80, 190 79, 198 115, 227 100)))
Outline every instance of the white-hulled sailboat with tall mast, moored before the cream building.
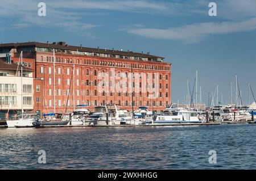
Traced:
MULTIPOLYGON (((7 126, 8 128, 17 128, 17 127, 33 127, 33 122, 35 121, 35 119, 33 117, 31 117, 32 115, 23 115, 23 84, 22 84, 22 78, 23 78, 23 52, 21 51, 20 53, 20 57, 21 57, 21 81, 20 81, 20 85, 21 85, 21 105, 22 105, 22 112, 21 112, 21 118, 18 120, 7 120, 7 126)), ((19 66, 19 64, 18 64, 19 66)), ((18 69, 17 69, 18 71, 18 69)))

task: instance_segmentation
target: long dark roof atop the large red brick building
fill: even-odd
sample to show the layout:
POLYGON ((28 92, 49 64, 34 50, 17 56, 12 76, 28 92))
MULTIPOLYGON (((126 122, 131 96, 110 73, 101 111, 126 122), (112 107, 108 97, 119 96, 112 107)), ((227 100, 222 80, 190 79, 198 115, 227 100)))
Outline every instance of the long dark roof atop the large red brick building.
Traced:
POLYGON ((120 50, 109 50, 109 49, 100 49, 100 48, 88 48, 88 47, 77 47, 64 44, 51 44, 51 43, 39 43, 35 41, 30 41, 26 43, 6 43, 0 44, 0 48, 18 48, 18 47, 42 47, 42 48, 55 48, 55 49, 65 49, 65 50, 74 50, 77 49, 82 52, 94 52, 94 53, 106 53, 106 54, 116 54, 122 56, 134 56, 134 57, 145 57, 145 58, 164 58, 159 56, 153 56, 145 53, 130 52, 130 51, 120 51, 120 50))

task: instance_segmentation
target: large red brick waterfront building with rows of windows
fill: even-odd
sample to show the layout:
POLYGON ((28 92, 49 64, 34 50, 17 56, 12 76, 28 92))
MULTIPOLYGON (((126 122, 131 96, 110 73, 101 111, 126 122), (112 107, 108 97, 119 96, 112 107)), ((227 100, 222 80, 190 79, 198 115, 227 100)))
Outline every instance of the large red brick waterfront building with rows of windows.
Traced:
POLYGON ((56 112, 72 112, 78 104, 94 111, 94 106, 109 103, 131 110, 131 90, 134 109, 163 110, 171 103, 171 64, 163 57, 64 42, 0 44, 0 54, 11 53, 14 62, 19 61, 20 51, 25 65, 34 70, 35 111, 54 112, 54 95, 56 112))

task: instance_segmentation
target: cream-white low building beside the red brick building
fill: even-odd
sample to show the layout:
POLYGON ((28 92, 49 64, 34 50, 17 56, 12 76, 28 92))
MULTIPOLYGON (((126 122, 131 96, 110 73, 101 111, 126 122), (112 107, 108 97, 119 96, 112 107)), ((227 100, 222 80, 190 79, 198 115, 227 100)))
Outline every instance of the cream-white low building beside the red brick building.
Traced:
POLYGON ((8 111, 10 119, 20 112, 22 100, 24 112, 33 110, 34 104, 33 70, 23 67, 23 77, 21 77, 21 67, 7 59, 0 58, 0 120, 8 119, 8 111))

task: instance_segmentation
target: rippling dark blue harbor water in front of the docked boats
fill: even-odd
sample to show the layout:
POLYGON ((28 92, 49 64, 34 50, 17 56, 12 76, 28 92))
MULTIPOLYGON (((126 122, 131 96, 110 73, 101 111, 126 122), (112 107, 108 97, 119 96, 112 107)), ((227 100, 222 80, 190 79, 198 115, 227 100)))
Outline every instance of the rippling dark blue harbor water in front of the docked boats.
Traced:
POLYGON ((0 169, 256 169, 255 137, 255 124, 0 129, 0 169))

